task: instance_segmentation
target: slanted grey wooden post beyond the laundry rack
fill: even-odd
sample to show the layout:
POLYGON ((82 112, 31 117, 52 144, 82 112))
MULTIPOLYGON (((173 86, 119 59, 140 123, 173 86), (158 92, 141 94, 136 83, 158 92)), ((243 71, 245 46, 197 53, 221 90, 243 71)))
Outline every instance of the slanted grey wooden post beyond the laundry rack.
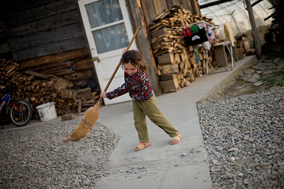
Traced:
POLYGON ((255 45, 256 45, 256 49, 257 49, 257 57, 258 57, 258 59, 260 59, 260 57, 261 57, 260 37, 259 37, 259 34, 258 34, 251 1, 245 0, 245 3, 246 3, 246 6, 247 6, 247 11, 248 11, 251 26, 252 26, 253 38, 254 38, 254 42, 255 42, 255 45))

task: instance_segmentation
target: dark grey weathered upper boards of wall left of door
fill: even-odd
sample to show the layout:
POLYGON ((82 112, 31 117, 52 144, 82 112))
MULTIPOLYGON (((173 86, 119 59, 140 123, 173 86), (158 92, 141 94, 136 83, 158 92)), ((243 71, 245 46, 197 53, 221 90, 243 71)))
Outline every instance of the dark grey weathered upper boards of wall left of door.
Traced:
POLYGON ((87 46, 76 0, 10 0, 1 7, 15 61, 87 46))

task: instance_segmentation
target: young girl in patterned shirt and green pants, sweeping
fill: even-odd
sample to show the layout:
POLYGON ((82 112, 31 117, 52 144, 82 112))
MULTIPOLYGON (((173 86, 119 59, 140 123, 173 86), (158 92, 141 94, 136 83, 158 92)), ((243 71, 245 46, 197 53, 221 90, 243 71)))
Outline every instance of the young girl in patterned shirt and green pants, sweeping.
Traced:
POLYGON ((182 136, 179 131, 166 119, 158 108, 154 91, 146 74, 147 64, 137 50, 124 49, 121 57, 121 67, 124 69, 125 83, 111 92, 101 92, 100 97, 113 99, 125 93, 132 98, 134 125, 138 132, 140 144, 135 147, 140 151, 150 146, 146 125, 146 116, 157 126, 162 128, 169 137, 171 144, 177 144, 182 136))

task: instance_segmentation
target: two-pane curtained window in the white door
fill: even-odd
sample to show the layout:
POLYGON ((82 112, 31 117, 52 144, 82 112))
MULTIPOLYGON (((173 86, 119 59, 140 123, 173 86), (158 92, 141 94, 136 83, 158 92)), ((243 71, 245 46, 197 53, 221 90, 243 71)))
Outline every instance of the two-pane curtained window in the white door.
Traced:
POLYGON ((85 5, 97 53, 128 44, 128 37, 118 0, 99 0, 85 5))

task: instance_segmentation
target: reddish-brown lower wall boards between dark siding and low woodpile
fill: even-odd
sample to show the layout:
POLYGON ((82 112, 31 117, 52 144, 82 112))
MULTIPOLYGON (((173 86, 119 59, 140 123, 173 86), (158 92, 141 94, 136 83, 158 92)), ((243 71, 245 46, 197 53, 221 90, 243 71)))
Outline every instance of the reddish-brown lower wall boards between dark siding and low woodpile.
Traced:
POLYGON ((94 78, 92 62, 86 48, 28 59, 18 64, 21 70, 52 74, 74 84, 94 78))

